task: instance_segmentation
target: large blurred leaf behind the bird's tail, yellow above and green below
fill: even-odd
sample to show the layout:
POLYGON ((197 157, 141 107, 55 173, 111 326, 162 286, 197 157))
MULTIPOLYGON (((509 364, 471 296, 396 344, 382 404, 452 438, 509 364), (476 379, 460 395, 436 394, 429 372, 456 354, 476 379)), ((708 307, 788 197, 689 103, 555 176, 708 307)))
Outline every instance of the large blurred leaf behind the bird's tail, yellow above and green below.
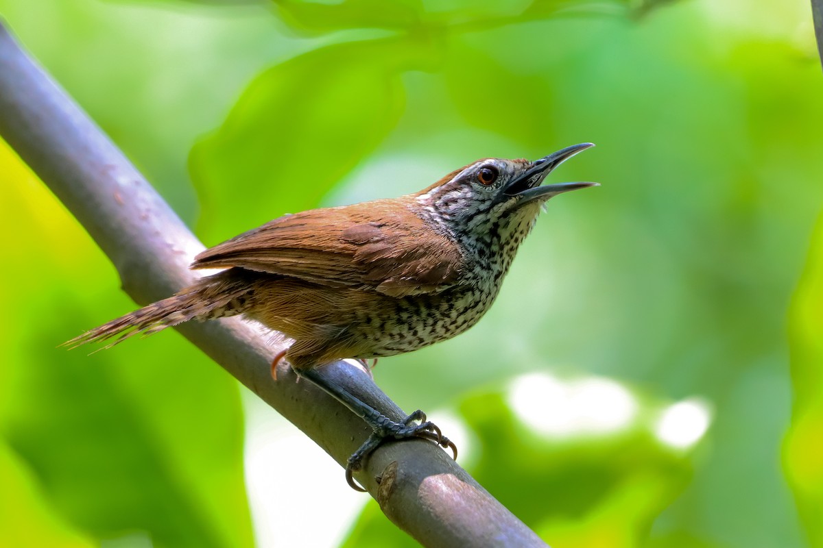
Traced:
MULTIPOLYGON (((7 306, 20 312, 0 320, 9 348, 0 436, 55 523, 97 541, 137 535, 154 546, 251 546, 235 382, 173 332, 91 357, 91 349, 55 348, 134 305, 102 253, 2 141, 0 178, 0 215, 25 227, 4 252, 26 265, 5 273, 20 289, 7 306), (47 284, 30 276, 56 269, 63 274, 47 284)), ((5 487, 2 504, 16 504, 5 487)))

